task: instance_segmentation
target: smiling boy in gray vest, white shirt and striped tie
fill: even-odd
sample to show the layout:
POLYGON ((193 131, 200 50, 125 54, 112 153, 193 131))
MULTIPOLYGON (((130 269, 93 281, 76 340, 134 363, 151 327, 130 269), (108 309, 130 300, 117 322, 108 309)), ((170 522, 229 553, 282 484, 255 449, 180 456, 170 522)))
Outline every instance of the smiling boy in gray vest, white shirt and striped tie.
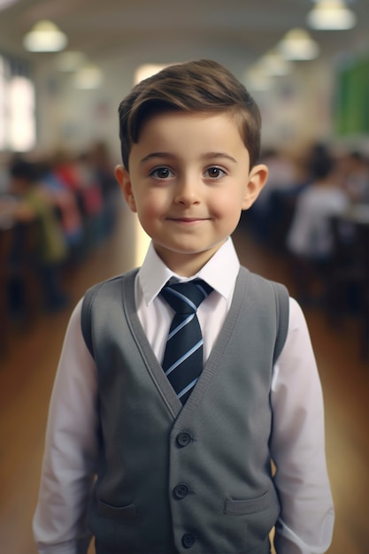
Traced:
POLYGON ((116 176, 152 242, 138 273, 97 285, 73 312, 39 551, 86 553, 94 535, 97 554, 266 554, 275 525, 278 554, 324 552, 334 512, 304 316, 281 285, 240 268, 230 238, 267 177, 258 108, 202 60, 142 81, 119 119, 116 176), (194 278, 203 338, 190 351, 204 346, 204 369, 178 388, 172 374, 189 354, 167 367, 165 342, 197 317, 173 331, 169 302, 195 303, 181 292, 194 278))

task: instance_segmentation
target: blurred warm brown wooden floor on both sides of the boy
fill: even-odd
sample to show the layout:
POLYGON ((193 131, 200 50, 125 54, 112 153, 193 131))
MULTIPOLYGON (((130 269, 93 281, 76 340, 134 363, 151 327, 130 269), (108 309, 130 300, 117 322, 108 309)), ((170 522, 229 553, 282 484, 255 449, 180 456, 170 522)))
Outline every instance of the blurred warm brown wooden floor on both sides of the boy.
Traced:
MULTIPOLYGON (((96 281, 134 265, 135 230, 122 212, 111 238, 68 275, 76 301, 96 281)), ((244 265, 288 285, 288 265, 244 232, 234 235, 244 265)), ((31 520, 42 461, 50 389, 65 326, 72 308, 40 316, 32 328, 13 332, 0 360, 0 553, 35 554, 31 520)), ((369 367, 358 357, 357 322, 340 331, 327 326, 325 314, 305 310, 326 403, 327 462, 334 493, 336 525, 329 554, 369 552, 369 367)))

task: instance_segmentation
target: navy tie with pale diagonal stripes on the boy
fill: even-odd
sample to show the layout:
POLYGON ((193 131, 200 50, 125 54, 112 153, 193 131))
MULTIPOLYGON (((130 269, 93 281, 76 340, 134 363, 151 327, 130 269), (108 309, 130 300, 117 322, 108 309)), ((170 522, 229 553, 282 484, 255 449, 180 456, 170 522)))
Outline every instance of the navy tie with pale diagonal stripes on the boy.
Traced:
POLYGON ((175 312, 162 365, 182 404, 185 404, 203 370, 204 340, 196 310, 211 291, 207 283, 195 279, 166 284, 160 293, 175 312))

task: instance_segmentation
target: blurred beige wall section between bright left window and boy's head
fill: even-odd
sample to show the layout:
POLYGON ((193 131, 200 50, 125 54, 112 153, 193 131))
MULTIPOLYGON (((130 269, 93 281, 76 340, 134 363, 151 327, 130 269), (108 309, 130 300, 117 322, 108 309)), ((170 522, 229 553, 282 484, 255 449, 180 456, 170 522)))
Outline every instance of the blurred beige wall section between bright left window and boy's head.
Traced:
POLYGON ((104 81, 96 90, 73 86, 73 73, 60 73, 53 58, 35 68, 37 91, 37 150, 59 147, 81 151, 103 140, 117 163, 119 155, 118 106, 133 84, 129 60, 104 60, 104 81))

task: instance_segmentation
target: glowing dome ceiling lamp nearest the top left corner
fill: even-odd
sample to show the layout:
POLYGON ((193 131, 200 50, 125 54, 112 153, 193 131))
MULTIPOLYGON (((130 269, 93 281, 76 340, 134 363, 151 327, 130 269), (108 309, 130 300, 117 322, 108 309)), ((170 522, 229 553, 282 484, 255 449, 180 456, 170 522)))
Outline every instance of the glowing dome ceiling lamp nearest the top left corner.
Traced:
POLYGON ((23 40, 23 45, 29 52, 58 52, 65 48, 66 43, 66 35, 48 19, 36 23, 23 40))

